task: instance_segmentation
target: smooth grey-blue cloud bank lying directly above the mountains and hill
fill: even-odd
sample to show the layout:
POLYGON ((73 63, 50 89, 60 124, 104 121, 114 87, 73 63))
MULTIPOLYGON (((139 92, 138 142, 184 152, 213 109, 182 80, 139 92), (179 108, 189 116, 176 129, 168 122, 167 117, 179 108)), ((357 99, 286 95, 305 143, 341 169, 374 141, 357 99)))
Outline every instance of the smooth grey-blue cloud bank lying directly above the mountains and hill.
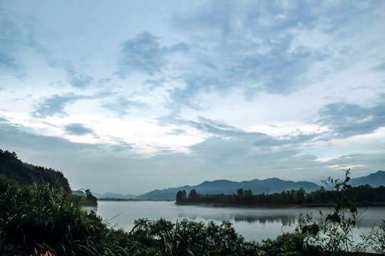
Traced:
POLYGON ((337 176, 334 169, 323 168, 325 165, 355 166, 352 176, 363 176, 381 169, 384 159, 384 154, 354 154, 319 162, 316 156, 299 155, 300 150, 292 146, 256 148, 247 137, 210 137, 191 146, 190 154, 168 152, 138 157, 130 150, 132 146, 123 141, 114 145, 73 143, 24 132, 25 128, 0 120, 0 148, 16 151, 20 159, 31 164, 62 171, 72 188, 86 187, 95 192, 113 189, 139 194, 217 178, 241 181, 276 176, 319 183, 327 176, 337 176))

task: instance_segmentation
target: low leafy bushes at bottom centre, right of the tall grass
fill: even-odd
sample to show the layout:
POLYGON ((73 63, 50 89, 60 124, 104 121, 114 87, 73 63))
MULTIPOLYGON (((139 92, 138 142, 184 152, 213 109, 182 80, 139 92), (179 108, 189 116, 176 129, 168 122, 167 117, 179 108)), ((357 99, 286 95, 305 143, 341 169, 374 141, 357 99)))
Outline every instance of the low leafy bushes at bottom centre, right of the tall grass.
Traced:
POLYGON ((259 255, 257 243, 246 242, 229 221, 217 225, 140 219, 130 238, 138 246, 138 255, 259 255))

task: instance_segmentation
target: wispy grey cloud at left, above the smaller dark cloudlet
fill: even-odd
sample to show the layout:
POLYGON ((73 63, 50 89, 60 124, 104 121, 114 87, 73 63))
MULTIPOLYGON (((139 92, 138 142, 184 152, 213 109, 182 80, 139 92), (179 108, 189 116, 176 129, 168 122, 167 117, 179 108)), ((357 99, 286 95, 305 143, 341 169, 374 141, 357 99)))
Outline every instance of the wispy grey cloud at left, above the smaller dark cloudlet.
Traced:
POLYGON ((52 95, 51 97, 43 97, 42 102, 35 105, 35 110, 30 112, 31 117, 46 118, 58 115, 65 117, 67 113, 64 111, 66 105, 76 102, 85 96, 75 95, 73 92, 68 92, 63 95, 52 95))

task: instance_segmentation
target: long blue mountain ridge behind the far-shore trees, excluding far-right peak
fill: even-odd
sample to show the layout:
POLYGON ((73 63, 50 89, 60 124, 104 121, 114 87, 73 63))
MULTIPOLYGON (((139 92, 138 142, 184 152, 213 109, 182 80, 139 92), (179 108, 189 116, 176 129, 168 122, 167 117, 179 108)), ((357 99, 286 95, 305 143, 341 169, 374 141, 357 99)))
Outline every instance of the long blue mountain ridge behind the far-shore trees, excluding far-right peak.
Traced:
POLYGON ((311 192, 317 190, 319 185, 309 181, 282 181, 279 178, 267 178, 265 180, 255 179, 252 181, 205 181, 197 186, 183 186, 179 188, 166 188, 163 190, 155 190, 143 195, 137 196, 136 199, 152 199, 152 200, 175 200, 175 195, 178 191, 185 190, 189 193, 195 189, 201 194, 232 194, 237 193, 239 188, 244 190, 250 189, 252 193, 281 193, 282 191, 298 190, 304 188, 304 191, 311 192))

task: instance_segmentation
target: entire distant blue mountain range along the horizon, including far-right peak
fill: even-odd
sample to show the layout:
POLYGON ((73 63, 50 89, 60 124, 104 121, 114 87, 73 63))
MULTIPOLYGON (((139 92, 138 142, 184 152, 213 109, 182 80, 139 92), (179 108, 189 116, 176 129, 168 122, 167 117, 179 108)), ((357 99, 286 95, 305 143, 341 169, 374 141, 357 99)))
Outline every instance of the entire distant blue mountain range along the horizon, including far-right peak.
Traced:
MULTIPOLYGON (((361 186, 369 184, 372 187, 385 186, 385 171, 377 171, 375 174, 369 174, 359 178, 351 178, 349 181, 351 186, 361 186)), ((201 194, 232 194, 237 193, 239 188, 251 189, 252 193, 281 193, 282 191, 290 191, 292 189, 298 190, 303 188, 306 192, 311 192, 320 188, 316 183, 309 181, 283 181, 279 178, 267 178, 264 180, 255 179, 252 181, 205 181, 197 186, 181 186, 179 188, 165 188, 163 190, 154 190, 145 193, 140 196, 122 195, 118 193, 94 193, 97 198, 125 198, 125 199, 138 199, 138 200, 175 200, 176 193, 178 191, 185 190, 186 193, 190 193, 192 189, 195 189, 197 193, 201 194)))

